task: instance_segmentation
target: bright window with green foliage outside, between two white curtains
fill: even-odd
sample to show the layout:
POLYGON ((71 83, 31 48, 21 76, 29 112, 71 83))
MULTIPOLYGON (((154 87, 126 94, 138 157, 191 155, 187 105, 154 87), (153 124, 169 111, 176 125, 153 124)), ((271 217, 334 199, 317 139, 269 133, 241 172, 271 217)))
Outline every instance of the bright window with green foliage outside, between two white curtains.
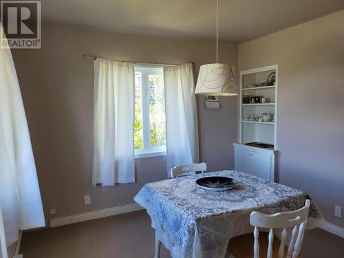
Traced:
POLYGON ((135 66, 134 147, 136 158, 166 154, 164 70, 135 66))

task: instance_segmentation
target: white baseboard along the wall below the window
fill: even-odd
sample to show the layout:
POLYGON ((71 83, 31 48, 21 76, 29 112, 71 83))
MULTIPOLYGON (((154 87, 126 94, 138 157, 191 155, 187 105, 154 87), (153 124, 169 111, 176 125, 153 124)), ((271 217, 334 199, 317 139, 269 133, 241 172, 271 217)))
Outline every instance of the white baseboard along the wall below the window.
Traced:
POLYGON ((67 217, 58 217, 56 219, 50 219, 50 227, 54 228, 56 226, 63 226, 78 222, 85 222, 91 219, 100 219, 101 217, 109 217, 113 215, 118 215, 122 213, 131 213, 133 211, 139 211, 143 208, 138 204, 128 204, 113 208, 105 208, 99 211, 90 211, 88 213, 80 213, 76 215, 71 215, 67 217))

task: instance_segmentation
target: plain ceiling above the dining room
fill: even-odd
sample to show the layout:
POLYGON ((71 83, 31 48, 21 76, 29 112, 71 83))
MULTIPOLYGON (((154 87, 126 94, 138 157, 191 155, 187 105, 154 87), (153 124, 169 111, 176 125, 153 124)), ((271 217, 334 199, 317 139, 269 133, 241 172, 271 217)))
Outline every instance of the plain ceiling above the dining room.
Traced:
MULTIPOLYGON (((43 22, 215 39, 215 0, 42 0, 43 22)), ((219 38, 241 43, 344 9, 344 0, 219 0, 219 38)))

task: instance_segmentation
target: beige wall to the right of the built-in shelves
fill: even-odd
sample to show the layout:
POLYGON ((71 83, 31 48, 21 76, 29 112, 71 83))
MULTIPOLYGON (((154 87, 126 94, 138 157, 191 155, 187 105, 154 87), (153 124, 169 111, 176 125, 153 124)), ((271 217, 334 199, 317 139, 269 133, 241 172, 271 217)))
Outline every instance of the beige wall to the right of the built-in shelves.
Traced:
POLYGON ((275 64, 279 182, 344 227, 344 10, 239 45, 240 70, 275 64))

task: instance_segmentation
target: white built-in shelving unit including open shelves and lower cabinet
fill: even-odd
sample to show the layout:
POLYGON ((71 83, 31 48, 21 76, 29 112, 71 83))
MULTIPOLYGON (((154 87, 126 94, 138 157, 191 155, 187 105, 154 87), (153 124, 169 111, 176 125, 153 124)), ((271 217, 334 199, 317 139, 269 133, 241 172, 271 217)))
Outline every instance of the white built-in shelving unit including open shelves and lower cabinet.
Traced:
POLYGON ((278 167, 277 89, 278 65, 240 72, 240 128, 239 144, 234 144, 234 168, 272 182, 278 167), (271 79, 273 73, 275 80, 271 79), (263 119, 262 114, 271 115, 263 119))

